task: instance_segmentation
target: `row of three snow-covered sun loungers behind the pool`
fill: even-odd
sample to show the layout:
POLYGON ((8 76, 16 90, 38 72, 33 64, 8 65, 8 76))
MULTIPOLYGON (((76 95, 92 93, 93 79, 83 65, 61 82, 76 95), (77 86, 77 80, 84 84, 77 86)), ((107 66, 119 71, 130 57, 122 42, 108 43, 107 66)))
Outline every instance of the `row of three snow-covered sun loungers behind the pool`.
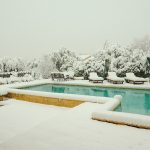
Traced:
MULTIPOLYGON (((107 80, 113 84, 123 84, 124 81, 133 84, 143 84, 147 81, 144 78, 136 77, 134 73, 126 73, 125 78, 120 78, 115 72, 108 72, 107 80)), ((97 73, 91 72, 89 75, 89 81, 93 83, 103 83, 104 79, 102 77, 98 77, 97 73)))

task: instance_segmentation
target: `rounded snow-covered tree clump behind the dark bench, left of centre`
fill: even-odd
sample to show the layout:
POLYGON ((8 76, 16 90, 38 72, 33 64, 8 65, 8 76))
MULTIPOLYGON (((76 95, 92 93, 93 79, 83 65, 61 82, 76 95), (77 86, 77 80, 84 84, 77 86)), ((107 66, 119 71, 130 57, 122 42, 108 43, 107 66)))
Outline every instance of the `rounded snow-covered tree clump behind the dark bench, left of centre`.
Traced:
POLYGON ((41 75, 42 78, 49 78, 51 72, 55 71, 73 71, 73 64, 77 62, 78 58, 75 53, 61 48, 58 52, 44 55, 40 58, 37 65, 36 72, 41 75))

